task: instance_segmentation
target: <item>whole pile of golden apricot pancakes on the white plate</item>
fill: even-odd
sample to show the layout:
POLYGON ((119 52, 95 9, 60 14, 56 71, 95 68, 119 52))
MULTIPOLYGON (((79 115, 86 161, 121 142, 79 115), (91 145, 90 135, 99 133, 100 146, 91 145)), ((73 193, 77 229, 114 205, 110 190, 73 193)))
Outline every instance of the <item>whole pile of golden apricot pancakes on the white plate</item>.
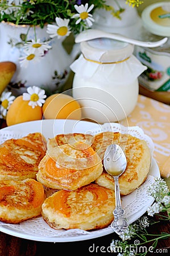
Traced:
POLYGON ((4 142, 0 146, 0 220, 18 223, 31 218, 26 212, 33 212, 32 217, 41 213, 54 229, 108 226, 114 218, 114 179, 106 173, 103 157, 110 144, 119 144, 125 151, 127 168, 119 184, 121 195, 127 195, 140 187, 150 169, 150 150, 143 140, 103 132, 94 136, 58 134, 48 139, 47 148, 38 133, 4 142), (46 199, 44 188, 52 191, 46 199), (16 217, 18 209, 23 218, 22 214, 16 217))

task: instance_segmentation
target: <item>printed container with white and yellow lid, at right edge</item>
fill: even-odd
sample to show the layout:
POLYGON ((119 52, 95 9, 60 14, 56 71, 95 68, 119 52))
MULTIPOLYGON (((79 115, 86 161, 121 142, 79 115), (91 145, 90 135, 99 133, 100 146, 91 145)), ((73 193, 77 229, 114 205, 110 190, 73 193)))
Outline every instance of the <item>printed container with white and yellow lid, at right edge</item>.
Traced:
POLYGON ((157 41, 168 37, 165 44, 155 48, 135 47, 135 56, 147 66, 139 76, 140 93, 170 104, 170 3, 159 2, 142 12, 143 28, 138 39, 157 41))

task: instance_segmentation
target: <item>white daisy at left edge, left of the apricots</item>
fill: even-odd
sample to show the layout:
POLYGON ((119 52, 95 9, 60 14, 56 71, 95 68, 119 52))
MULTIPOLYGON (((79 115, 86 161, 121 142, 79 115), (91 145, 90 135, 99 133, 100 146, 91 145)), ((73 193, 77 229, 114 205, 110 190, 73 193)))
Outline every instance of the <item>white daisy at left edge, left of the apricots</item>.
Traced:
POLYGON ((7 110, 9 110, 10 105, 15 100, 15 96, 11 96, 11 92, 3 92, 0 98, 1 107, 0 107, 0 118, 5 119, 7 110))

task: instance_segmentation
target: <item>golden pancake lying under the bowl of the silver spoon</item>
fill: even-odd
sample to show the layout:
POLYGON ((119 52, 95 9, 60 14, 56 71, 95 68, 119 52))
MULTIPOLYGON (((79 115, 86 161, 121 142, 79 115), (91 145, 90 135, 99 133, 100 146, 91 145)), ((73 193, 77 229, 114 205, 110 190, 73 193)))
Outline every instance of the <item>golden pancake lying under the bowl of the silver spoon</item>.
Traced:
MULTIPOLYGON (((147 178, 151 164, 150 149, 146 141, 130 134, 114 133, 114 143, 121 146, 127 158, 126 170, 119 177, 119 187, 121 195, 128 195, 139 188, 147 178)), ((114 190, 114 179, 105 170, 95 183, 114 190)))

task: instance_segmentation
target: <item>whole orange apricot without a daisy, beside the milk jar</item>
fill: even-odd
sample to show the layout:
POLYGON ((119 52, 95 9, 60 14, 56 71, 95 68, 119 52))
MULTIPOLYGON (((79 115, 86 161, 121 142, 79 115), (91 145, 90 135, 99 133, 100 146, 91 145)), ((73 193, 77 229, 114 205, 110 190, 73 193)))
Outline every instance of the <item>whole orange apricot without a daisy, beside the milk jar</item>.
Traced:
POLYGON ((45 119, 81 119, 81 106, 72 96, 55 93, 43 105, 45 119))

